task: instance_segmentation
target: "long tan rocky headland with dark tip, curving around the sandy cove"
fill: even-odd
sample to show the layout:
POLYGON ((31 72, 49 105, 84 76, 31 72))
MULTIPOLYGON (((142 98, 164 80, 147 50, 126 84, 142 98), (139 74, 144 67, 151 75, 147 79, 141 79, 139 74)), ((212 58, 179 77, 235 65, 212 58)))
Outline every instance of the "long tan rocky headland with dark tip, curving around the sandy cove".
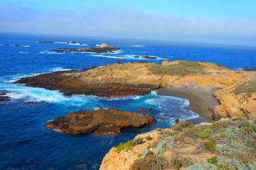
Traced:
POLYGON ((211 109, 214 120, 233 116, 256 120, 255 81, 255 71, 232 71, 206 62, 163 61, 162 65, 116 63, 81 71, 58 71, 21 78, 16 83, 60 90, 65 95, 100 97, 140 95, 169 87, 213 88, 212 95, 220 104, 211 109))

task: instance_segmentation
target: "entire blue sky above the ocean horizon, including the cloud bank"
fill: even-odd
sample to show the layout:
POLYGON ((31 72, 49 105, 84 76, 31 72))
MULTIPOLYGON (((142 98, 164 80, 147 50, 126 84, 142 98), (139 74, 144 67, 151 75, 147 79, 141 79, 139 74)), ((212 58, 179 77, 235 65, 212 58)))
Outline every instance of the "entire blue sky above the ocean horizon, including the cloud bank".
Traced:
POLYGON ((0 0, 0 31, 256 46, 256 1, 0 0))

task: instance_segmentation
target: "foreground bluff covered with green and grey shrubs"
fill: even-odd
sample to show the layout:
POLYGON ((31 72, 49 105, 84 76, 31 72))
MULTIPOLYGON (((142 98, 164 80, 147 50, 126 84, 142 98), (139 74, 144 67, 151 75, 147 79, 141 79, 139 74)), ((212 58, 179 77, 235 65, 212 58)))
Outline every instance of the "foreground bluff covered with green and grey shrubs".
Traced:
POLYGON ((256 169, 256 124, 222 118, 193 126, 189 122, 156 129, 112 148, 105 169, 256 169))

